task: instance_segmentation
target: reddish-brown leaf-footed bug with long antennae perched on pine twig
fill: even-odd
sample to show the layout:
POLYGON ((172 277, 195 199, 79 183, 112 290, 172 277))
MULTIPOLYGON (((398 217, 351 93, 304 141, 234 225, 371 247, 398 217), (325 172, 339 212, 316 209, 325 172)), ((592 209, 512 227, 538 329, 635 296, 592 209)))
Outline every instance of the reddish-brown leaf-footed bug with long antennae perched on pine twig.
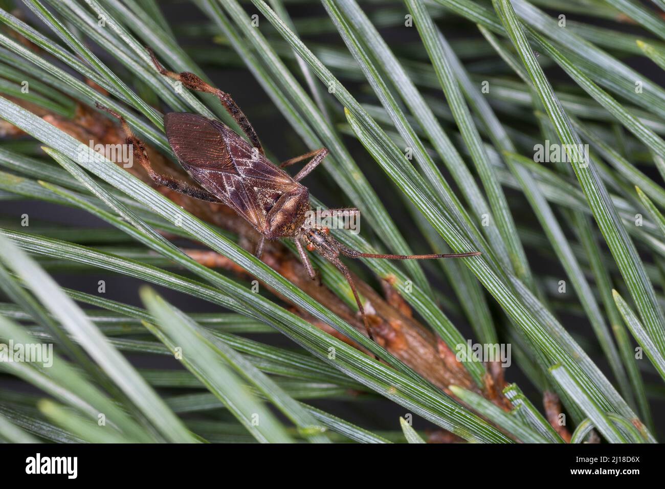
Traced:
MULTIPOLYGON (((474 251, 433 255, 384 255, 360 253, 342 245, 331 236, 328 228, 312 224, 311 220, 307 220, 307 213, 312 210, 309 204, 309 191, 299 183, 323 161, 328 150, 321 148, 291 158, 278 168, 265 157, 254 128, 228 94, 210 86, 192 73, 167 71, 157 61, 154 53, 150 49, 148 51, 156 69, 162 75, 180 81, 192 90, 217 96, 250 142, 217 120, 186 112, 170 112, 164 115, 168 142, 182 166, 198 184, 194 186, 172 176, 155 172, 150 166, 144 144, 134 136, 124 118, 113 110, 97 104, 98 108, 120 119, 127 136, 126 142, 132 144, 134 148, 134 158, 157 184, 194 198, 225 204, 245 218, 261 234, 256 250, 257 257, 261 257, 265 240, 291 238, 295 242, 309 277, 315 279, 315 271, 307 257, 305 247, 309 251, 318 251, 346 277, 362 315, 367 335, 371 339, 373 337, 364 308, 340 255, 352 258, 430 259, 460 258, 480 254, 479 251, 474 251), (282 170, 307 158, 311 159, 294 177, 282 170)), ((356 208, 343 210, 359 214, 356 208)))

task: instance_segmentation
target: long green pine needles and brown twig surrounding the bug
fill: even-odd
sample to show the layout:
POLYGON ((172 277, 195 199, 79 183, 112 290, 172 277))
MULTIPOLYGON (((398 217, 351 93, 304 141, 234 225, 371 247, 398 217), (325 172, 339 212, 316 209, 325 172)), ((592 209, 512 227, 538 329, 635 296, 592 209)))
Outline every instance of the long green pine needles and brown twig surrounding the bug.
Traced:
POLYGON ((0 361, 1 440, 658 439, 664 0, 0 7, 0 345, 53 345, 51 365, 0 361), (160 75, 146 46, 207 81, 246 71, 292 154, 329 149, 313 181, 337 202, 311 200, 360 210, 360 234, 331 230, 343 244, 482 254, 349 263, 372 341, 330 263, 313 257, 323 301, 277 266, 298 263, 291 244, 261 261, 237 229, 88 147, 116 127, 96 102, 175 171, 164 112, 237 129, 216 98, 160 75), (44 209, 98 224, 31 216, 44 209), (510 345, 510 367, 458 361, 468 340, 510 345), (384 415, 396 406, 401 418, 384 415))

